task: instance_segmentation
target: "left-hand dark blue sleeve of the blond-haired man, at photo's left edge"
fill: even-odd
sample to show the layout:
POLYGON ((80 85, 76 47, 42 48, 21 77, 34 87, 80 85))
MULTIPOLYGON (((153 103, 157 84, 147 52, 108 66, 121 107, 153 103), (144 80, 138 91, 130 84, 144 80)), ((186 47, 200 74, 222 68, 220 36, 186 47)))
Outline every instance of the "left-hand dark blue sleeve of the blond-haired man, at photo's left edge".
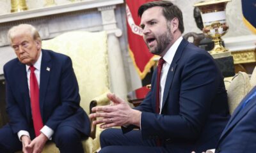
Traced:
MULTIPOLYGON (((20 107, 17 104, 19 99, 14 97, 14 93, 11 87, 11 76, 7 72, 6 66, 4 66, 4 78, 5 78, 5 85, 6 85, 6 111, 9 117, 9 124, 12 128, 13 133, 18 133, 20 130, 29 130, 28 122, 24 113, 20 112, 20 107)), ((14 77, 14 76, 13 76, 14 77)), ((21 100, 21 99, 20 99, 21 100)))

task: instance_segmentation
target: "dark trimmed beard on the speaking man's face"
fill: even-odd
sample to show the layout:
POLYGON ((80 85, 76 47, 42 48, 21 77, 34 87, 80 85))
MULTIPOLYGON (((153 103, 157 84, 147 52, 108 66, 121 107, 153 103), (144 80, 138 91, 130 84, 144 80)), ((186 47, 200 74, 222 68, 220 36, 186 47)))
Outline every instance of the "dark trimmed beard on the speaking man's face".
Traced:
POLYGON ((160 36, 156 36, 156 47, 149 47, 147 44, 152 54, 160 55, 170 45, 173 40, 173 35, 170 33, 170 30, 170 26, 167 25, 167 31, 160 36))

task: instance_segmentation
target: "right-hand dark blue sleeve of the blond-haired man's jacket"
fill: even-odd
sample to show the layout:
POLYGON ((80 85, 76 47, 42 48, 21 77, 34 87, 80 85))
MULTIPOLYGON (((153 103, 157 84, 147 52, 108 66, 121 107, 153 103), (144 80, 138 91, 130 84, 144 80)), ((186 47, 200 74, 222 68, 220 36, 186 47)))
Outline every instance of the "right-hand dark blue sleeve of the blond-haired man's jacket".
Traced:
MULTIPOLYGON (((54 93, 52 93, 54 94, 54 93)), ((56 106, 46 126, 55 130, 57 126, 77 112, 80 103, 79 88, 70 57, 65 58, 61 66, 60 105, 56 106)))

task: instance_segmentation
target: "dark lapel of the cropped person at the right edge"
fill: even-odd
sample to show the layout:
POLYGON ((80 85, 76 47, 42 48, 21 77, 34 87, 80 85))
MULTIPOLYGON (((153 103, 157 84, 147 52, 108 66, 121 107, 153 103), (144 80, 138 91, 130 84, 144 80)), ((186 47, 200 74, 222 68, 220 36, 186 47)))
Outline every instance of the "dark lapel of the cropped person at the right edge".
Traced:
POLYGON ((225 135, 225 133, 227 133, 228 130, 230 130, 231 128, 233 128, 233 126, 236 125, 237 122, 239 122, 239 120, 241 120, 244 115, 246 115, 246 113, 254 106, 256 105, 256 97, 251 99, 250 102, 248 102, 246 104, 246 106, 244 106, 244 108, 242 110, 241 109, 241 106, 243 105, 244 101, 246 101, 246 99, 248 99, 252 94, 253 92, 256 92, 256 87, 254 87, 246 96, 245 98, 241 101, 241 103, 239 103, 239 105, 237 106, 236 110, 234 111, 234 113, 232 114, 232 117, 230 118, 230 120, 228 121, 228 124, 226 126, 226 128, 224 129, 223 133, 221 134, 221 137, 223 135, 225 135), (253 103, 253 101, 255 101, 253 103))

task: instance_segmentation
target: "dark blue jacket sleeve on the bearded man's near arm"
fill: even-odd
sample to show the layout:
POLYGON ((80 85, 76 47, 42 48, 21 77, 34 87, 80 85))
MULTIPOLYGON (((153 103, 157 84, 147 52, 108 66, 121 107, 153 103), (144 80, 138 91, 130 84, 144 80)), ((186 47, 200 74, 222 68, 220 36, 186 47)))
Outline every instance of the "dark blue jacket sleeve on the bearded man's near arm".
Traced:
POLYGON ((179 113, 159 115, 142 112, 143 138, 196 139, 204 128, 208 114, 211 112, 211 103, 220 85, 219 71, 207 54, 191 55, 188 61, 184 62, 186 64, 179 78, 181 82, 179 101, 177 101, 179 113))

